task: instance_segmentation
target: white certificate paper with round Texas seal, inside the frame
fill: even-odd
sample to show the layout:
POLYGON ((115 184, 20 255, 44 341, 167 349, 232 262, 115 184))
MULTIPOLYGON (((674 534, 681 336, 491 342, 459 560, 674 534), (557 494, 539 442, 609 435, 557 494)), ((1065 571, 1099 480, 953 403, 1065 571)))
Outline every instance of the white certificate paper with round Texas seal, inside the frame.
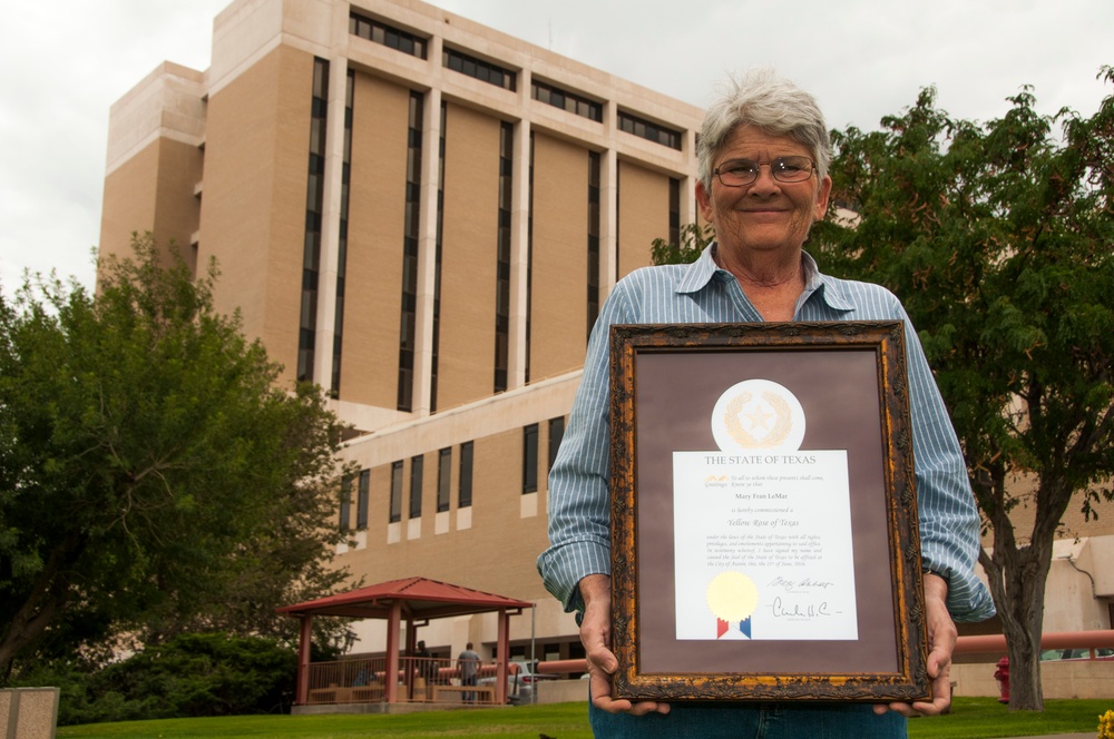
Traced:
POLYGON ((674 452, 677 639, 856 640, 848 459, 799 450, 786 388, 727 388, 720 450, 674 452))

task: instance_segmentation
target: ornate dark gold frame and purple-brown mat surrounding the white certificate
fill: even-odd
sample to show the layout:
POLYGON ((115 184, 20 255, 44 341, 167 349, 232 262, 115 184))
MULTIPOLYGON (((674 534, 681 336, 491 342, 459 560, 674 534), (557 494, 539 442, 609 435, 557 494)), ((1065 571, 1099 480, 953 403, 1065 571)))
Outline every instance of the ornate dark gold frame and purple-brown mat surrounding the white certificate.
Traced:
POLYGON ((931 691, 903 325, 620 325, 612 327, 610 353, 615 697, 927 699, 931 691), (672 459, 674 450, 707 449, 702 446, 706 441, 692 439, 701 433, 700 420, 707 417, 706 385, 754 373, 795 383, 821 417, 820 443, 834 439, 847 444, 809 449, 851 449, 851 456, 873 460, 851 471, 858 640, 710 646, 677 641, 675 630, 670 633, 670 618, 675 629, 670 593, 681 574, 670 565, 672 463, 664 457, 672 459))

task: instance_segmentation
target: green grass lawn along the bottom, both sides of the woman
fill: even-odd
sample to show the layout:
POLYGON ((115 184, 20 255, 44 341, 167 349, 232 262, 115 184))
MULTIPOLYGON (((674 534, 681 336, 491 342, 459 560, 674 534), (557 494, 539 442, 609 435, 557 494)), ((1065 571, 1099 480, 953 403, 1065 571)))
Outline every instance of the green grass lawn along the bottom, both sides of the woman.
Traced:
MULTIPOLYGON (((909 722, 912 739, 993 739, 1030 735, 1096 733, 1098 715, 1114 708, 1111 700, 1051 700, 1044 713, 1010 713, 993 698, 957 698, 950 716, 909 722)), ((499 737, 590 739, 584 703, 520 706, 405 715, 242 716, 215 719, 168 719, 60 727, 59 739, 135 737, 143 739, 437 739, 499 737)))

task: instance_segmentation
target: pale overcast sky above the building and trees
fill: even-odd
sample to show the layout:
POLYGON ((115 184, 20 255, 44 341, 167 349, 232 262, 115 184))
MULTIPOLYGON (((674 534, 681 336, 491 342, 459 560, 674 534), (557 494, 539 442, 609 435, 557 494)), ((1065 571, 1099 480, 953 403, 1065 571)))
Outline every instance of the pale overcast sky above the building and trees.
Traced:
MULTIPOLYGON (((163 60, 204 70, 229 0, 10 0, 0 24, 0 285, 25 269, 94 282, 108 109, 163 60)), ((730 71, 772 66, 832 128, 872 130, 935 86, 989 120, 1093 114, 1114 92, 1112 0, 437 0, 471 20, 696 106, 730 71), (590 19, 590 20, 589 20, 590 19)))

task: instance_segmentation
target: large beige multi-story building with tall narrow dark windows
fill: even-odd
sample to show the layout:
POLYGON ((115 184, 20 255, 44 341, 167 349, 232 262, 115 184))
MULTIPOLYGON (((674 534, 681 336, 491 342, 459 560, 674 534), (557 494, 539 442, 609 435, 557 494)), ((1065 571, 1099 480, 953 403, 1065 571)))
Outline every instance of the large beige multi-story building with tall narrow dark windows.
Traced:
MULTIPOLYGON (((338 563, 534 601, 512 653, 575 658, 535 571, 547 471, 600 303, 697 218, 700 118, 418 0, 235 0, 208 70, 165 63, 113 107, 100 246, 216 257, 218 307, 354 426, 338 563)), ((1114 530, 1084 529, 1049 630, 1110 628, 1114 530)), ((420 635, 490 656, 496 623, 420 635)))

